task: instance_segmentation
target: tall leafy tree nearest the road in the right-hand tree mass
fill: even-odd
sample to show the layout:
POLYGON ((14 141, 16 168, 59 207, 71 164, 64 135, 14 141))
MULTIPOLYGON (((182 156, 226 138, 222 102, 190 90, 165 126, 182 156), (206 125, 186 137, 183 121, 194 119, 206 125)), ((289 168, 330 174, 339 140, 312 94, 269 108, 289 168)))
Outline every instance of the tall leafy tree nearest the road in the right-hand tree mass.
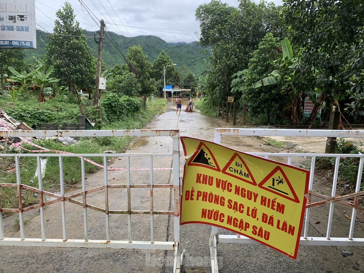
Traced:
POLYGON ((200 22, 200 44, 210 46, 212 78, 217 85, 217 101, 230 96, 233 74, 248 66, 253 52, 267 32, 280 36, 279 9, 272 3, 241 0, 239 6, 230 7, 219 0, 200 5, 195 13, 200 22))

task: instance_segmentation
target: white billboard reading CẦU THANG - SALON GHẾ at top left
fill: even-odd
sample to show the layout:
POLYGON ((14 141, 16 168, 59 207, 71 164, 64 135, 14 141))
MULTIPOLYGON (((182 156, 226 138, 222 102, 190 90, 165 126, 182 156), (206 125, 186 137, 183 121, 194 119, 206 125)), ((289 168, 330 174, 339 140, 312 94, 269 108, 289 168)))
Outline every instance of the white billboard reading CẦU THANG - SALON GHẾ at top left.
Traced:
POLYGON ((0 3, 0 48, 36 48, 35 0, 0 3))

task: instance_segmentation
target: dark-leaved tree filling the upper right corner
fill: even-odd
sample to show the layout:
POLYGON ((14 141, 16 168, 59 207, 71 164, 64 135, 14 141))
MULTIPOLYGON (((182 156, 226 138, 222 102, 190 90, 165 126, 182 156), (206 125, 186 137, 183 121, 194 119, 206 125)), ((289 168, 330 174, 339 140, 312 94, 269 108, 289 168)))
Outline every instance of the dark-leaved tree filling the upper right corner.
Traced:
MULTIPOLYGON (((284 87, 304 92, 315 104, 325 98, 361 98, 364 90, 364 6, 360 0, 287 0, 282 20, 294 48, 289 66, 279 66, 284 87)), ((360 99, 357 101, 360 102, 360 99)), ((354 113, 359 104, 352 105, 354 113)), ((360 112, 364 114, 364 112, 360 112)))

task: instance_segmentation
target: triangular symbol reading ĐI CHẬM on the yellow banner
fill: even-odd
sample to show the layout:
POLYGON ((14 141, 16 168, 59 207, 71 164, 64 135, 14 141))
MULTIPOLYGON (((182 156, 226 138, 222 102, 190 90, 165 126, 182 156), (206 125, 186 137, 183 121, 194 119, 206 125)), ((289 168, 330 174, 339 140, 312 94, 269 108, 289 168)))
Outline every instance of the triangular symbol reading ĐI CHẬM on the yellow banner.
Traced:
POLYGON ((248 166, 237 153, 235 153, 232 158, 230 158, 229 162, 227 162, 221 172, 257 186, 257 182, 255 182, 255 179, 248 166))

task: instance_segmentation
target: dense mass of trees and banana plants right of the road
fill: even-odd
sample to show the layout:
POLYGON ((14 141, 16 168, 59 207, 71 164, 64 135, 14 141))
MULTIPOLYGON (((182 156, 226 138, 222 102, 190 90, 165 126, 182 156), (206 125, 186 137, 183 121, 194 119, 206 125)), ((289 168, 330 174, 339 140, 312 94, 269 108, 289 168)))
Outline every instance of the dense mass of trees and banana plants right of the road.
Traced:
POLYGON ((212 0, 199 5, 199 43, 211 48, 211 56, 198 75, 196 91, 204 97, 196 107, 218 116, 222 103, 233 97, 238 112, 246 103, 250 123, 315 126, 327 124, 337 106, 342 114, 339 128, 341 118, 363 124, 360 3, 287 0, 277 7, 242 0, 233 7, 212 0), (241 39, 232 37, 232 29, 238 29, 241 39), (305 99, 312 110, 305 109, 305 99))

